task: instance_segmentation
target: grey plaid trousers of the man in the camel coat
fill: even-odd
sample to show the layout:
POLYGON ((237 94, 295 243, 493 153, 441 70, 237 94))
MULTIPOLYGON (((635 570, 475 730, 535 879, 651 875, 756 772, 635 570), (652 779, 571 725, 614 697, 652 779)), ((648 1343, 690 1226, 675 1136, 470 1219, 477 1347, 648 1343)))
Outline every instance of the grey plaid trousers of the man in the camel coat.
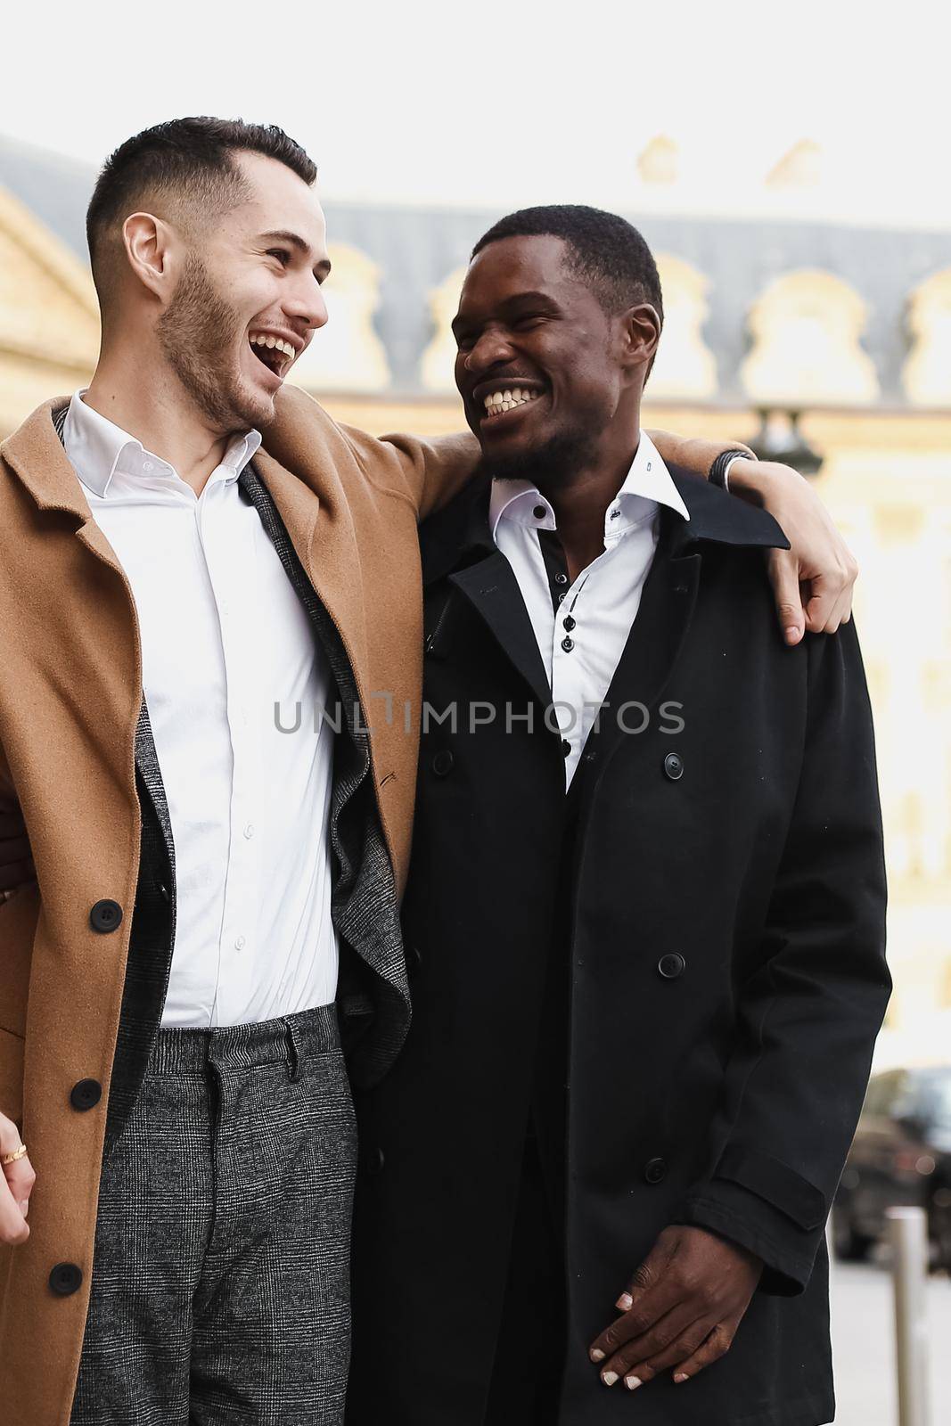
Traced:
POLYGON ((70 1426, 338 1426, 355 1159, 334 1005, 160 1030, 103 1164, 70 1426))

